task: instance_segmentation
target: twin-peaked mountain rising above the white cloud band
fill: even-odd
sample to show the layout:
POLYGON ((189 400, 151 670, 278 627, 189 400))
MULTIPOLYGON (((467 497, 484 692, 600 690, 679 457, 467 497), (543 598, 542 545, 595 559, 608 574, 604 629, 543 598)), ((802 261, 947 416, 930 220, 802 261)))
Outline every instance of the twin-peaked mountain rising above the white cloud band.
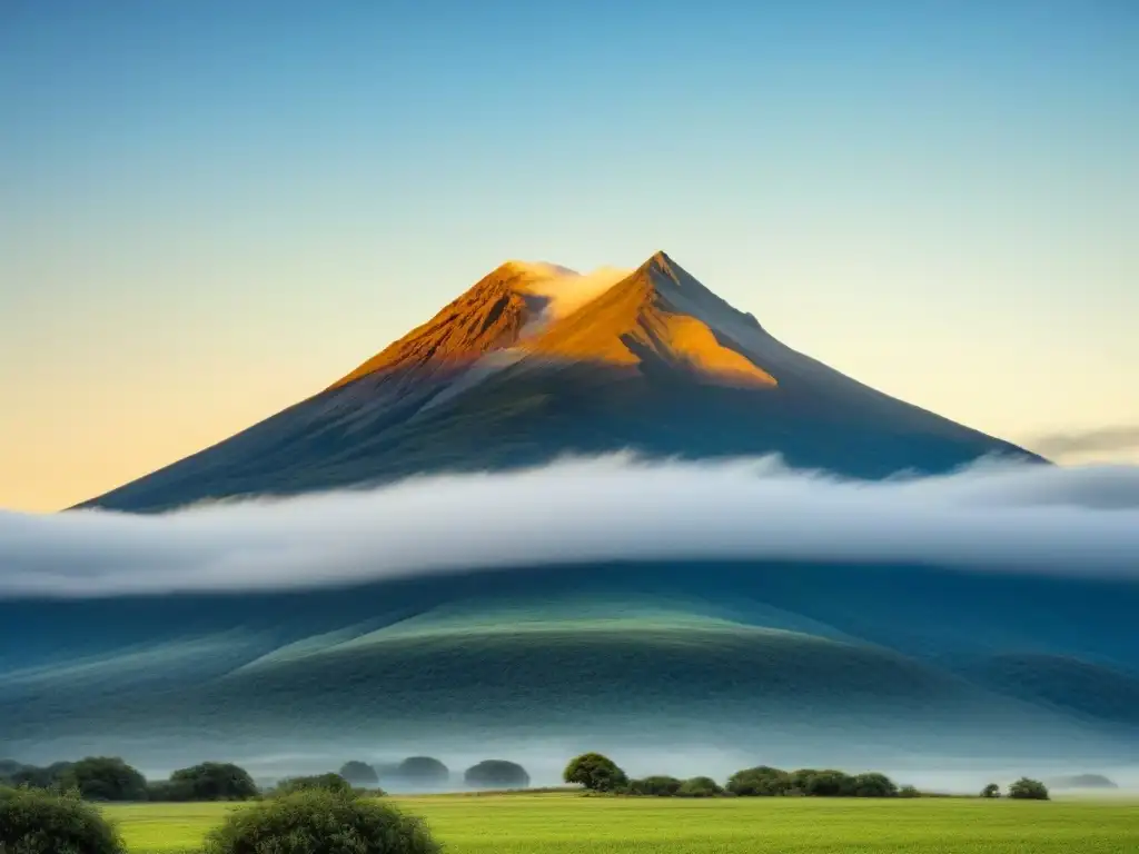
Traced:
POLYGON ((657 253, 588 276, 507 262, 322 392, 81 507, 156 511, 616 450, 778 452, 867 478, 1031 457, 795 352, 657 253))

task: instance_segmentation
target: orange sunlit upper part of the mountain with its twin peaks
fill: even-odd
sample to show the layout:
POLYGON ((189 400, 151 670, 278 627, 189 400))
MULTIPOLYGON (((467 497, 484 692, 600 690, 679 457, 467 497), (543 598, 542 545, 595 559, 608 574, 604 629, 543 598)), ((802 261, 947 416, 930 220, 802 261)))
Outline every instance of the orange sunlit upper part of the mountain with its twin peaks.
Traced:
MULTIPOLYGON (((722 330, 694 313, 697 303, 719 301, 703 286, 686 288, 673 269, 664 253, 632 272, 603 269, 585 276, 508 261, 331 387, 396 372, 439 377, 502 351, 513 358, 500 364, 557 356, 636 367, 652 359, 715 383, 776 385, 768 371, 726 345, 730 339, 722 330)), ((708 313, 726 311, 735 312, 712 303, 708 313)))

